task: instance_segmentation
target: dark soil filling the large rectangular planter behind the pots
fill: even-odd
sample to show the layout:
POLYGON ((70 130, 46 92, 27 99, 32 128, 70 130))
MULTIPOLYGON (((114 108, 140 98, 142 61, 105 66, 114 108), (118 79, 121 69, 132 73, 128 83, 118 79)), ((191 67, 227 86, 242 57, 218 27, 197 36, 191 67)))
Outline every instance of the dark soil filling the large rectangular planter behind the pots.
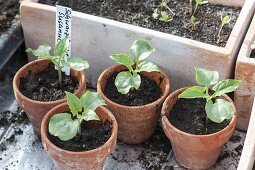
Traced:
MULTIPOLYGON (((200 5, 195 13, 199 20, 196 29, 190 22, 191 7, 188 0, 168 0, 168 6, 175 13, 172 21, 164 23, 152 17, 153 10, 159 8, 161 0, 40 0, 50 5, 60 4, 75 11, 105 17, 181 37, 224 47, 239 16, 241 8, 221 5, 200 5), (221 42, 217 44, 217 34, 221 16, 228 15, 230 24, 223 27, 221 42)), ((193 0, 193 4, 195 1, 193 0)), ((194 10, 193 6, 193 10, 194 10)), ((167 10, 166 10, 167 11, 167 10)), ((168 12, 168 11, 167 11, 168 12)))

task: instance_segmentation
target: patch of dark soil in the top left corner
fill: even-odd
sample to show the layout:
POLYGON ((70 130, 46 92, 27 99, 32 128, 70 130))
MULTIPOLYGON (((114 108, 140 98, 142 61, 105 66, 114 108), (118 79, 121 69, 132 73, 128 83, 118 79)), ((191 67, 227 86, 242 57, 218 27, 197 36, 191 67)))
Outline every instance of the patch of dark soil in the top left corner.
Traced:
POLYGON ((7 31, 15 18, 19 18, 20 0, 0 0, 0 35, 7 31))

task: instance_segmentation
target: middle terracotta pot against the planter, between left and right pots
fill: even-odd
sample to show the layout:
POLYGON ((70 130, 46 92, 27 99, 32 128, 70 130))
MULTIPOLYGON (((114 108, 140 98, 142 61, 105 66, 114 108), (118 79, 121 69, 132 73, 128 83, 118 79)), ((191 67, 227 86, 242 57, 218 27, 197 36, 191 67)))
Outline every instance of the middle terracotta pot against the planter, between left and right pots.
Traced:
POLYGON ((119 130, 118 139, 128 144, 138 144, 146 141, 154 132, 157 120, 160 116, 160 110, 163 101, 169 94, 170 81, 167 74, 163 71, 141 74, 151 80, 154 80, 161 88, 163 95, 153 103, 143 106, 124 106, 115 103, 104 95, 104 89, 108 78, 114 72, 120 72, 126 69, 122 65, 113 65, 106 69, 99 77, 97 91, 107 104, 107 108, 115 116, 119 130))

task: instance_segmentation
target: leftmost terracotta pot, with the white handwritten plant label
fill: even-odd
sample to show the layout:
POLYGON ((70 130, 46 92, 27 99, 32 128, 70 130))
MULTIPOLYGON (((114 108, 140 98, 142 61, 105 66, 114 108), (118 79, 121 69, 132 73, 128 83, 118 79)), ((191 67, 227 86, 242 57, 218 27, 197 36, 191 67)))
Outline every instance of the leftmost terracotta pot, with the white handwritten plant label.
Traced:
MULTIPOLYGON (((49 60, 35 60, 24 65, 19 71, 15 74, 13 79, 13 90, 18 104, 26 112, 29 121, 32 123, 34 131, 40 135, 40 125, 43 119, 43 116, 53 107, 66 102, 66 99, 42 102, 35 101, 27 98, 19 91, 20 79, 21 77, 26 77, 31 71, 32 74, 36 74, 44 70, 48 65, 49 60)), ((83 72, 78 72, 71 70, 71 75, 76 77, 79 81, 79 88, 74 93, 76 96, 81 96, 86 90, 86 79, 83 72)))

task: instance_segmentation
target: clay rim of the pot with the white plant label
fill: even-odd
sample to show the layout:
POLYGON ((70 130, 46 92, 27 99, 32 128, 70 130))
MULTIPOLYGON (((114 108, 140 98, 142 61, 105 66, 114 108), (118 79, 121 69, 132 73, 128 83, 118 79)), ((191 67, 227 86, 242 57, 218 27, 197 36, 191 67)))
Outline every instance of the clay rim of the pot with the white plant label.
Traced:
MULTIPOLYGON (((30 102, 30 103, 33 103, 33 104, 41 104, 41 105, 48 105, 48 104, 58 104, 58 103, 63 103, 66 101, 66 98, 63 98, 63 99, 59 99, 59 100, 54 100, 54 101, 37 101, 37 100, 32 100, 28 97, 26 97, 25 95, 23 95, 20 90, 19 90, 19 87, 17 85, 17 81, 18 79, 21 78, 21 72, 23 72, 24 70, 26 70, 28 67, 34 65, 34 64, 38 64, 38 63, 41 63, 41 62, 49 62, 50 63, 50 60, 47 60, 47 59, 38 59, 38 60, 34 60, 34 61, 31 61, 29 63, 27 63, 26 65, 24 65, 23 67, 21 67, 15 74, 14 76, 14 79, 13 79, 13 90, 16 91, 16 93, 21 96, 21 98, 25 99, 26 101, 30 102)), ((78 89, 74 92, 75 95, 77 95, 79 93, 79 91, 82 90, 82 86, 80 84, 83 84, 85 83, 86 84, 86 77, 85 77, 85 74, 83 71, 77 71, 78 74, 81 74, 81 83, 78 82, 78 89)))

